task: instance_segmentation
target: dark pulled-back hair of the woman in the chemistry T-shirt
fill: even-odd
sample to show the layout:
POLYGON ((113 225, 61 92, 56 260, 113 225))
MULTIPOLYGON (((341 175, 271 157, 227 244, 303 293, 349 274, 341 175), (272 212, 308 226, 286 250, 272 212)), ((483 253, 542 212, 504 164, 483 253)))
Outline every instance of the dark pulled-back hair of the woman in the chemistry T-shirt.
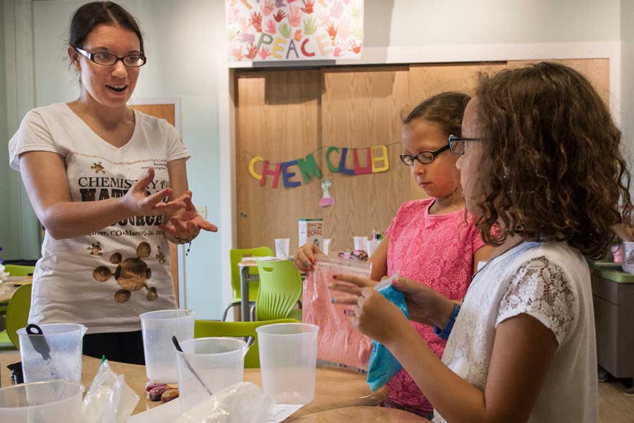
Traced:
POLYGON ((139 37, 141 53, 144 53, 143 35, 135 18, 123 7, 113 1, 92 1, 75 11, 70 21, 68 44, 73 47, 83 47, 86 37, 97 25, 120 25, 139 37))

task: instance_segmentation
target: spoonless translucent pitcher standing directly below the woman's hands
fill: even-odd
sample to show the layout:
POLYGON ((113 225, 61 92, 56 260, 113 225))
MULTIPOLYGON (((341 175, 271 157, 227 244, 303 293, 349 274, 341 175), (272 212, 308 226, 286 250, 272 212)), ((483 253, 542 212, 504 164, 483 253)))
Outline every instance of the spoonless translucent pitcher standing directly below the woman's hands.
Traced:
POLYGON ((172 336, 176 336, 179 342, 194 338, 194 315, 193 310, 175 309, 139 316, 147 379, 166 384, 178 380, 172 336))

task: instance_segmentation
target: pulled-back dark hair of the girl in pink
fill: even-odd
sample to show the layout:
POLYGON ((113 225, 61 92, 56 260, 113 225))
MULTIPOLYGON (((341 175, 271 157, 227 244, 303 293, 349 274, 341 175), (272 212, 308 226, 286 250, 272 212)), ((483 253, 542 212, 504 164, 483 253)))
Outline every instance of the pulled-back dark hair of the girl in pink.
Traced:
POLYGON ((402 116, 404 124, 414 121, 416 118, 423 118, 440 125, 442 131, 449 135, 462 135, 462 116, 464 109, 471 97, 461 92, 441 92, 433 97, 429 97, 414 110, 402 116))

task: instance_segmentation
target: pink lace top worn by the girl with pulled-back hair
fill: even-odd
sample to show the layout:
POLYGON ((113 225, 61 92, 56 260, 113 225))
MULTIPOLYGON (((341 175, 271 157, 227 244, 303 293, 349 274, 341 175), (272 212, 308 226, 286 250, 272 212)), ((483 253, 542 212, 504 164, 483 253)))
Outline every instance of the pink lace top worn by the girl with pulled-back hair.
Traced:
MULTIPOLYGON (((449 214, 429 214, 434 198, 401 206, 387 235, 387 274, 414 279, 452 300, 462 300, 471 283, 473 253, 484 245, 480 233, 465 222, 464 209, 449 214)), ((439 358, 447 341, 433 327, 411 322, 439 358)), ((432 405, 404 369, 387 383, 389 403, 430 413, 432 405)))

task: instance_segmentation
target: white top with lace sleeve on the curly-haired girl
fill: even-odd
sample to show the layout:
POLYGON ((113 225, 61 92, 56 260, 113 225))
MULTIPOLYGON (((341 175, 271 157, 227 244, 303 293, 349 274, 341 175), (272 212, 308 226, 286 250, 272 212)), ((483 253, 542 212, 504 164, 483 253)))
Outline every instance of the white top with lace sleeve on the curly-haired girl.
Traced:
MULTIPOLYGON (((557 354, 529 423, 597 422, 597 345, 590 270, 566 243, 523 243, 476 274, 442 362, 484 391, 495 330, 530 314, 554 333, 557 354)), ((434 422, 445 422, 437 412, 434 422)))

